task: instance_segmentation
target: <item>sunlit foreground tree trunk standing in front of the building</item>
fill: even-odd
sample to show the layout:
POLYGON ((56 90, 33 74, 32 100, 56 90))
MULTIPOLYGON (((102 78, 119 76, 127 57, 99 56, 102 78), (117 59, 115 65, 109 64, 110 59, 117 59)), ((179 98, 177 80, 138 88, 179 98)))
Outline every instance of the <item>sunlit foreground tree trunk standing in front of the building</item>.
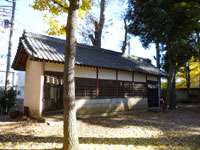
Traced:
POLYGON ((77 10, 79 8, 78 0, 70 0, 66 28, 66 47, 64 64, 64 150, 78 150, 79 141, 76 130, 76 106, 75 106, 75 82, 74 68, 76 55, 76 24, 77 10))

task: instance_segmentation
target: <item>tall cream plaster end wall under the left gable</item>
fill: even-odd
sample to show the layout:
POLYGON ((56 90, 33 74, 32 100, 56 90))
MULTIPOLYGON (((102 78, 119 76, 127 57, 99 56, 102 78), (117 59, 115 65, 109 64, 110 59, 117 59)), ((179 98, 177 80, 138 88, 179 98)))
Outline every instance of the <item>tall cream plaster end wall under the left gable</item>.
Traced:
POLYGON ((28 60, 26 64, 24 106, 29 107, 30 115, 40 117, 44 84, 44 64, 28 60))

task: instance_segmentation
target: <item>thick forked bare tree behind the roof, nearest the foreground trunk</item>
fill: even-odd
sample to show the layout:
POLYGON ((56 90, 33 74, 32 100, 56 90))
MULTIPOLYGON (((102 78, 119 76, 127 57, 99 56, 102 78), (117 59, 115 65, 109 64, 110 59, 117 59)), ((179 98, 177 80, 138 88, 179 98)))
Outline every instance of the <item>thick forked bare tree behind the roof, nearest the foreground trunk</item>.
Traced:
POLYGON ((80 25, 80 34, 84 42, 102 47, 102 39, 109 33, 106 29, 112 25, 112 19, 109 19, 105 13, 108 7, 112 7, 112 2, 114 3, 110 0, 92 0, 92 9, 80 25))

